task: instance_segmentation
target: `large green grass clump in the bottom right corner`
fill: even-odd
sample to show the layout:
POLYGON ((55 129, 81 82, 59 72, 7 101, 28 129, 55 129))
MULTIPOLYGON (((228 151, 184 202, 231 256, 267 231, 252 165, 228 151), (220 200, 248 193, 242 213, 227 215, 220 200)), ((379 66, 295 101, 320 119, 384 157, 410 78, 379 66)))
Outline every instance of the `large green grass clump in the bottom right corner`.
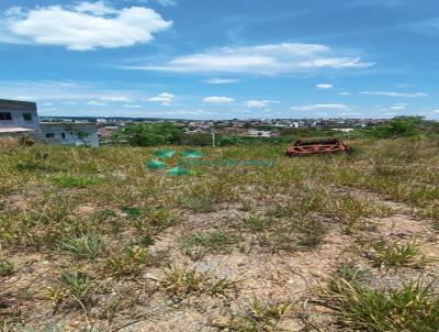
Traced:
POLYGON ((373 289, 336 277, 326 292, 342 331, 439 331, 439 295, 431 284, 373 289))

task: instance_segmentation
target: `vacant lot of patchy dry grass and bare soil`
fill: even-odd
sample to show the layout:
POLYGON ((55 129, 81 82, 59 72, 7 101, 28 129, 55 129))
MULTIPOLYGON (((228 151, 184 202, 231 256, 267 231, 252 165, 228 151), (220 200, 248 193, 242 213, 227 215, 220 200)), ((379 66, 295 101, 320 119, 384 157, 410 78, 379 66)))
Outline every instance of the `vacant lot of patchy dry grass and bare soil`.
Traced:
POLYGON ((438 331, 439 142, 349 143, 3 147, 0 329, 438 331))

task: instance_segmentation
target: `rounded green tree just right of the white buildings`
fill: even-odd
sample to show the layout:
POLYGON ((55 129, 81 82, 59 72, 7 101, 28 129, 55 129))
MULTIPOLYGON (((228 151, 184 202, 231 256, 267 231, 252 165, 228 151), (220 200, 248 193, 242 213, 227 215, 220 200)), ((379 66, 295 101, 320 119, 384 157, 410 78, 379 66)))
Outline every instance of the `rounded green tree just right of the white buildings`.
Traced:
POLYGON ((116 131, 113 137, 131 145, 151 146, 179 143, 181 135, 182 130, 172 123, 135 123, 116 131))

